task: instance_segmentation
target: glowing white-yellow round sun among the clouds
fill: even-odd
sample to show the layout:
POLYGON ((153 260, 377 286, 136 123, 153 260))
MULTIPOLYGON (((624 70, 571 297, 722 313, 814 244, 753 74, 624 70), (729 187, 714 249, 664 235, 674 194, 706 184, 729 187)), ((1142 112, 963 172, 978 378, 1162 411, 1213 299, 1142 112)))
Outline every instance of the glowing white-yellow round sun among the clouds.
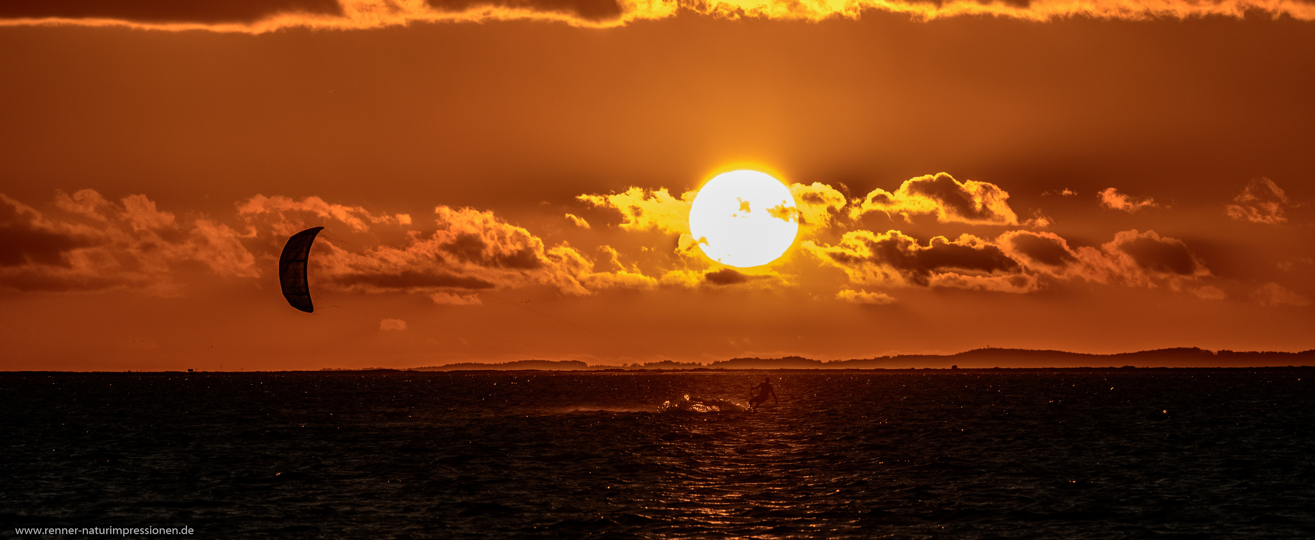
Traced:
POLYGON ((780 180, 757 171, 731 171, 698 191, 689 209, 689 231, 707 258, 731 267, 759 267, 794 243, 800 210, 780 180))

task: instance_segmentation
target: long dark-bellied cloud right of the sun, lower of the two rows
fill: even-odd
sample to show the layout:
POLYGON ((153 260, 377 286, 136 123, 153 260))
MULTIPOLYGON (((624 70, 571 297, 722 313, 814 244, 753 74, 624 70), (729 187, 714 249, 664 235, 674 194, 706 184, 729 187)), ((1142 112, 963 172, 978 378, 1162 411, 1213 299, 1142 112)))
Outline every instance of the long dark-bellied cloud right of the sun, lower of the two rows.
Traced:
MULTIPOLYGON (((1007 231, 994 240, 969 234, 953 240, 934 236, 926 244, 897 230, 860 230, 846 233, 835 246, 811 240, 802 246, 823 264, 844 271, 851 284, 867 286, 1031 293, 1041 288, 1043 279, 1051 279, 1181 290, 1210 276, 1182 240, 1155 231, 1122 231, 1099 248, 1073 248, 1053 233, 1026 230, 1007 231)), ((1202 294, 1212 292, 1198 292, 1202 294)))

